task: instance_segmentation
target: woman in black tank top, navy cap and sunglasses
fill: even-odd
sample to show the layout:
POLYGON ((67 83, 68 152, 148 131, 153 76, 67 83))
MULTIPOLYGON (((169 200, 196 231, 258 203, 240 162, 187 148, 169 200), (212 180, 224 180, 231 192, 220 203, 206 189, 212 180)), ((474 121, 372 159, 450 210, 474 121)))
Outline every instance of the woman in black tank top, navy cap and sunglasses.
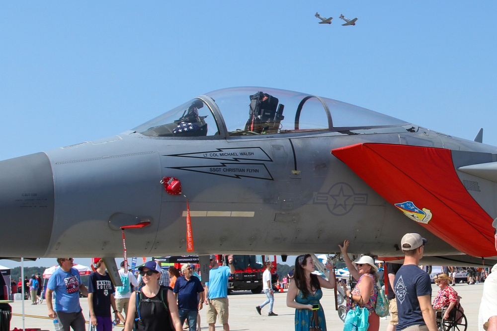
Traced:
POLYGON ((159 285, 161 267, 149 261, 138 270, 145 285, 129 299, 124 331, 132 331, 135 321, 136 331, 181 331, 176 298, 169 287, 159 285))

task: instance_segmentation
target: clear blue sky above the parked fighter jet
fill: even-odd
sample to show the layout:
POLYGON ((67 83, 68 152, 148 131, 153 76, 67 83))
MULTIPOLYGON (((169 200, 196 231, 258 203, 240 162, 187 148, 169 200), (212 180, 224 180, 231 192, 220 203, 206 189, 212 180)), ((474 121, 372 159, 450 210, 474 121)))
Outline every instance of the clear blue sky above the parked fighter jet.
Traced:
POLYGON ((471 140, 483 127, 497 145, 496 13, 496 1, 460 0, 1 1, 0 160, 124 132, 243 85, 471 140))

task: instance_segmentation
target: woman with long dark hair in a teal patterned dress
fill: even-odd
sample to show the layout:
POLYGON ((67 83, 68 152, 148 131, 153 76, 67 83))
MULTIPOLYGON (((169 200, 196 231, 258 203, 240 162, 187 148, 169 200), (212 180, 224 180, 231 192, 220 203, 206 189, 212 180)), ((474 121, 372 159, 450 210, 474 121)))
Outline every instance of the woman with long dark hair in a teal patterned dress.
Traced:
MULTIPOLYGON (((333 265, 326 267, 331 270, 333 265)), ((319 305, 316 324, 326 331, 325 312, 319 300, 323 296, 322 287, 334 288, 335 279, 326 280, 312 273, 315 270, 310 254, 299 255, 295 259, 295 273, 286 295, 286 305, 295 308, 295 331, 309 331, 313 317, 313 305, 319 305)))

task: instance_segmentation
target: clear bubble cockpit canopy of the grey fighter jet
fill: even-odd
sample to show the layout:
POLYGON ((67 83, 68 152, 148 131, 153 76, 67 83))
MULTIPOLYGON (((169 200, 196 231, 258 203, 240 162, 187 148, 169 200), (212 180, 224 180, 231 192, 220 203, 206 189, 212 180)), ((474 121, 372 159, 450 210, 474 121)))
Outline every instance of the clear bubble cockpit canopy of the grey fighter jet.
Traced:
MULTIPOLYGON (((134 129, 154 137, 243 137, 392 128, 405 121, 315 95, 235 87, 200 95, 134 129)), ((359 134, 359 133, 354 133, 359 134)))

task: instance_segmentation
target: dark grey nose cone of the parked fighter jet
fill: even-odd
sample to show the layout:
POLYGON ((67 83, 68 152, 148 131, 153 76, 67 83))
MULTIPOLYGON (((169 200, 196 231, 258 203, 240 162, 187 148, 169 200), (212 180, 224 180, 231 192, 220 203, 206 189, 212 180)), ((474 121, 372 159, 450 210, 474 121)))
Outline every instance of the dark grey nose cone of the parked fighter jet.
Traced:
POLYGON ((50 160, 36 153, 0 161, 0 256, 42 257, 54 221, 50 160))

